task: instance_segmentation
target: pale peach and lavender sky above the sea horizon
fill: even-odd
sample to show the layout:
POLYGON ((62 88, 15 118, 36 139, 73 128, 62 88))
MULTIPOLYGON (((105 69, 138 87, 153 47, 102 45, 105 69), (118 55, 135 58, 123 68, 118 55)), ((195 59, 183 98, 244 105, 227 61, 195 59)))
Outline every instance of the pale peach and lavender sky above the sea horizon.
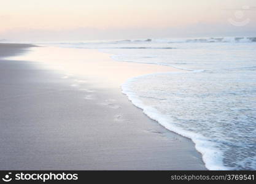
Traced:
POLYGON ((0 40, 253 33, 255 0, 0 0, 0 40), (235 23, 246 23, 234 26, 230 18, 235 23))

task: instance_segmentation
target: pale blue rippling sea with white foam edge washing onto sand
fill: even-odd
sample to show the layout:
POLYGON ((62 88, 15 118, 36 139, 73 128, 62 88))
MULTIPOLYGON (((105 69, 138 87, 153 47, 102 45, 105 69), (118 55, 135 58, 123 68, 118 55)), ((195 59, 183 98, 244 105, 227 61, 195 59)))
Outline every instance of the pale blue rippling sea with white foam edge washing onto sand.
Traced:
POLYGON ((256 37, 55 45, 96 48, 117 62, 182 69, 130 79, 123 93, 150 118, 192 139, 208 169, 256 169, 256 37))

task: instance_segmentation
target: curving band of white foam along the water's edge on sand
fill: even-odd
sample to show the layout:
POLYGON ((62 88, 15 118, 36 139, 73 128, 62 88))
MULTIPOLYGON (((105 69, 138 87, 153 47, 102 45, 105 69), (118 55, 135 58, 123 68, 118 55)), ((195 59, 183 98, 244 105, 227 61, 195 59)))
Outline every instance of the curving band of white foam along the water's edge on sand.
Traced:
MULTIPOLYGON (((153 74, 147 74, 153 75, 153 74)), ((176 132, 181 136, 187 137, 191 139, 195 143, 195 148, 198 150, 202 156, 205 166, 209 170, 228 170, 228 167, 223 165, 223 153, 219 149, 217 149, 216 145, 211 142, 208 138, 201 136, 195 132, 187 131, 185 129, 179 128, 174 125, 173 120, 166 115, 158 112, 157 109, 145 105, 139 97, 130 89, 131 82, 139 79, 140 77, 144 77, 145 75, 141 75, 139 77, 134 77, 132 79, 127 80, 122 85, 122 93, 128 96, 128 99, 133 102, 136 107, 139 107, 143 110, 143 112, 153 120, 160 123, 160 125, 164 126, 169 131, 176 132)))

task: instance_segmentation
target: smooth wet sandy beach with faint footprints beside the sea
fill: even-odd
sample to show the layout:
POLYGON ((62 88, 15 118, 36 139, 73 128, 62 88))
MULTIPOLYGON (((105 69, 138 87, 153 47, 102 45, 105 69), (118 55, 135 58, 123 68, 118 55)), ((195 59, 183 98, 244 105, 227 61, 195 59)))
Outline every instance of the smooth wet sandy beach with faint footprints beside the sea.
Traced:
POLYGON ((1 59, 29 46, 0 44, 0 169, 205 169, 191 140, 148 118, 120 91, 129 77, 175 69, 69 48, 1 59))

